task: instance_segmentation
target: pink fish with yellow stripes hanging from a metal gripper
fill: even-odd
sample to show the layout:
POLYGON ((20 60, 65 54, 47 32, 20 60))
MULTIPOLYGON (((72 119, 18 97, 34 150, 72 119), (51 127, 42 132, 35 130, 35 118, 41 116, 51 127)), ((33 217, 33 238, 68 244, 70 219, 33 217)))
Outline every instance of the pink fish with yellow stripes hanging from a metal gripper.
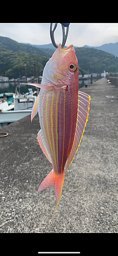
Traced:
POLYGON ((57 208, 65 173, 80 146, 90 109, 90 96, 79 91, 78 60, 73 45, 61 49, 59 44, 46 62, 41 84, 31 85, 40 88, 32 108, 31 121, 38 113, 41 129, 37 140, 53 165, 39 185, 38 193, 54 186, 57 208))

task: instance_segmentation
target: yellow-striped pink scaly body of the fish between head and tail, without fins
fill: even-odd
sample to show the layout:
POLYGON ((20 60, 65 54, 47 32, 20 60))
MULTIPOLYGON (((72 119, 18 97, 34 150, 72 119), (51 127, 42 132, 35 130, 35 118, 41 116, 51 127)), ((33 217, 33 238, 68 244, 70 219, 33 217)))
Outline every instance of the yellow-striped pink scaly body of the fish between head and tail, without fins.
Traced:
POLYGON ((78 98, 74 96, 74 88, 68 88, 67 92, 64 88, 57 89, 53 93, 42 89, 40 91, 40 126, 52 159, 53 170, 57 174, 60 174, 64 169, 73 145, 77 104, 78 98))

